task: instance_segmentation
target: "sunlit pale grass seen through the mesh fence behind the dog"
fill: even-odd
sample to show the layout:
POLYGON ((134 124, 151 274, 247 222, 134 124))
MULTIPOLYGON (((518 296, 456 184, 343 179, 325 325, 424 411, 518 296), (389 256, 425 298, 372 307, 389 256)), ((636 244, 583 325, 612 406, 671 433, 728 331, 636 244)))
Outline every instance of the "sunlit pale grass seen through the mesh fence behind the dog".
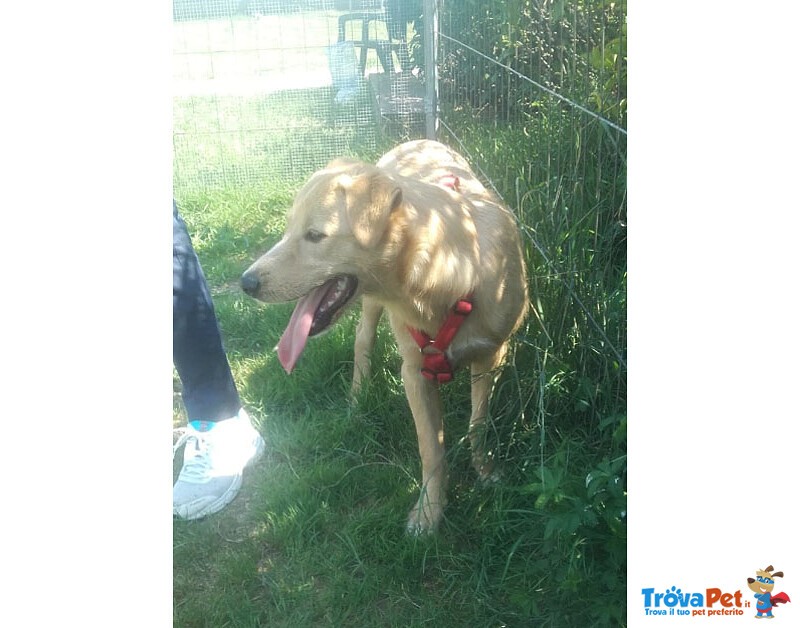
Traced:
POLYGON ((267 178, 297 184, 334 157, 377 153, 366 84, 352 103, 333 98, 332 87, 176 98, 176 193, 267 178))

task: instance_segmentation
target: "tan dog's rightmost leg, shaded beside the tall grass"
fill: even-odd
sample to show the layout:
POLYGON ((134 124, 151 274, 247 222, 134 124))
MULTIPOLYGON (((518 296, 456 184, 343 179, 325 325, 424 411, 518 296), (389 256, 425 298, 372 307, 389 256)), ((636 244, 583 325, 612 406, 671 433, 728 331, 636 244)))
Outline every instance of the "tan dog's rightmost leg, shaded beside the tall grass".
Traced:
POLYGON ((469 442, 472 449, 472 466, 481 480, 496 480, 494 452, 486 446, 486 417, 489 414, 489 395, 497 381, 508 344, 502 344, 495 353, 472 362, 472 416, 469 420, 469 442))

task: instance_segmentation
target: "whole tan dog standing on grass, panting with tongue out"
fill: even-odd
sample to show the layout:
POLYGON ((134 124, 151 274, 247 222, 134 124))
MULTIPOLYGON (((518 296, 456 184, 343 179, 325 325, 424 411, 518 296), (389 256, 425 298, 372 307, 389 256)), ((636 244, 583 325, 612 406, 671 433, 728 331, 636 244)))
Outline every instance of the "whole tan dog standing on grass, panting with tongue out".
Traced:
POLYGON ((449 375, 424 375, 429 360, 444 364, 444 371, 471 367, 473 464, 489 477, 491 461, 479 428, 509 336, 527 311, 527 279, 514 217, 460 155, 419 140, 398 146, 377 166, 332 162, 297 194, 283 239, 242 275, 242 288, 267 302, 299 299, 278 344, 287 372, 308 337, 327 329, 362 296, 356 392, 370 377, 375 330, 386 309, 403 357, 422 458, 422 490, 409 515, 410 531, 435 529, 446 501, 438 381, 449 375), (453 315, 465 298, 471 313, 453 315), (441 351, 421 350, 410 331, 427 341, 450 326, 452 335, 454 319, 455 336, 441 351))

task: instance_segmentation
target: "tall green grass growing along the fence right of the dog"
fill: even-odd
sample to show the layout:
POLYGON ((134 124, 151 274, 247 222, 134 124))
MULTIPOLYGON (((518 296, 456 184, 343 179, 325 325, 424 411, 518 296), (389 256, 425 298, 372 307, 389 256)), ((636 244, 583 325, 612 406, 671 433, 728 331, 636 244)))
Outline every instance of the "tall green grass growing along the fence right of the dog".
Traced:
POLYGON ((448 139, 469 151, 514 208, 526 243, 533 313, 493 402, 509 491, 498 524, 521 531, 505 551, 538 556, 550 595, 563 608, 581 608, 581 621, 622 623, 624 137, 599 123, 576 125, 558 106, 514 124, 476 122, 463 109, 445 119, 458 130, 448 139))

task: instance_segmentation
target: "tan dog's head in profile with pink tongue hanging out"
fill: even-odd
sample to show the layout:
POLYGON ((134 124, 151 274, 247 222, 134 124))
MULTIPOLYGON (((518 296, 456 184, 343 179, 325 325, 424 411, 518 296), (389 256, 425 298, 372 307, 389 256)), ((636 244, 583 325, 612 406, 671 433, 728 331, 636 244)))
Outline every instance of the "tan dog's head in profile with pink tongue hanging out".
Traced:
POLYGON ((336 160, 316 172, 286 216, 283 238, 242 275, 243 290, 270 303, 299 299, 278 346, 291 371, 308 337, 328 329, 362 292, 374 291, 399 185, 374 166, 336 160))

